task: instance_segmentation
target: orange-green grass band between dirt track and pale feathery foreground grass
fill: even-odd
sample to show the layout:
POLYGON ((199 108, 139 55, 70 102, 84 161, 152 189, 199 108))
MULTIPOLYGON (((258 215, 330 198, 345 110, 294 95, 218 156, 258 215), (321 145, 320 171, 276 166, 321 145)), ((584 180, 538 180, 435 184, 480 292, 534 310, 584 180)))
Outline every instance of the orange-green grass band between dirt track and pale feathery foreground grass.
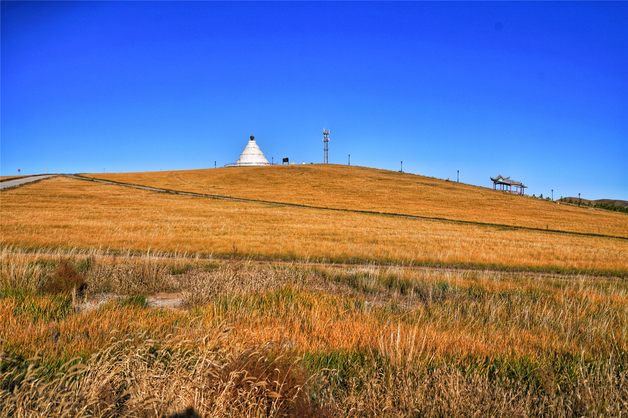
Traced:
POLYGON ((197 264, 173 276, 166 272, 165 260, 92 256, 85 296, 35 296, 42 277, 61 259, 3 250, 1 284, 9 292, 0 307, 0 337, 12 352, 28 357, 39 351, 48 360, 68 359, 104 347, 114 329, 133 333, 143 324, 168 335, 183 327, 195 338, 202 332, 197 328, 216 327, 222 321, 232 324, 234 335, 252 347, 289 342, 289 348, 310 353, 372 349, 399 361, 420 355, 450 365, 484 357, 544 364, 559 353, 598 358, 628 352, 628 293, 623 281, 373 265, 256 266, 242 261, 208 270, 197 264), (129 268, 131 264, 137 268, 129 268), (15 287, 16 282, 8 280, 12 269, 33 275, 33 285, 15 287), (138 310, 134 303, 114 300, 76 315, 72 303, 103 289, 118 295, 138 293, 126 283, 112 285, 102 274, 105 269, 126 271, 126 282, 147 283, 149 292, 183 291, 189 311, 138 310), (147 270, 154 273, 147 275, 147 270), (30 302, 33 298, 36 304, 30 302))

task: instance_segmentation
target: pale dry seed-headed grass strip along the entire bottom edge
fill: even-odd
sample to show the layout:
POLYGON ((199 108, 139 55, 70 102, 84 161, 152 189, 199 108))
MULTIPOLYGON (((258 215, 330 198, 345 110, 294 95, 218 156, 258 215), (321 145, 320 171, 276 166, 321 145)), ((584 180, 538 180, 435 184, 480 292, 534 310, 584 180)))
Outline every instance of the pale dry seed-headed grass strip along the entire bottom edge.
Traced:
POLYGON ((350 363, 345 376, 312 374, 298 358, 244 349, 224 341, 227 334, 196 341, 125 335, 87 365, 68 363, 54 376, 9 365, 0 406, 14 417, 604 417, 628 410, 628 379, 613 362, 582 365, 563 387, 374 355, 350 363))

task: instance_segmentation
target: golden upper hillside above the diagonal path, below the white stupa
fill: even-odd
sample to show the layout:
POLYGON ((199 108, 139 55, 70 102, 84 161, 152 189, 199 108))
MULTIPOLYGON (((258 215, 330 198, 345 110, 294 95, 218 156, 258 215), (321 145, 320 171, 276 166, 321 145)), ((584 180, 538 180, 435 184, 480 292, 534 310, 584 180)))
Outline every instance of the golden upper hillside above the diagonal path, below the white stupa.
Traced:
POLYGON ((368 167, 306 164, 85 176, 243 199, 628 236, 626 214, 368 167))

